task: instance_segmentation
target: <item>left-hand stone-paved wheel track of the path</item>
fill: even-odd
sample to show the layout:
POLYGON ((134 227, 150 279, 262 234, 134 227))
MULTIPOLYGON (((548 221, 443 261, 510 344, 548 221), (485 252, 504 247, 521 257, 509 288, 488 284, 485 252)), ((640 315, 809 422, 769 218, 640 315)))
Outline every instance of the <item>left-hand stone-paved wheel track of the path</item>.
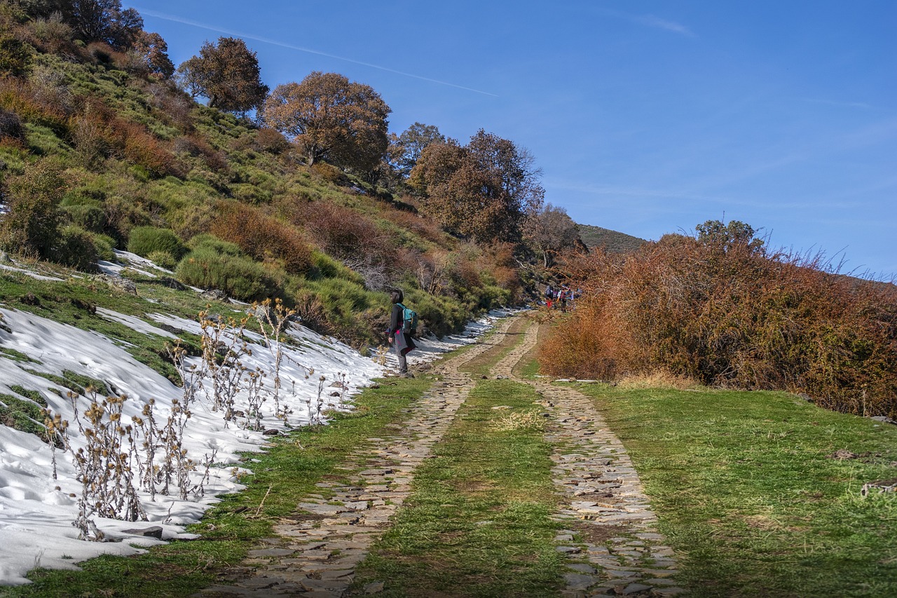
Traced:
POLYGON ((214 585, 196 595, 342 596, 352 584, 355 566, 410 494, 415 468, 430 455, 473 388, 469 376, 457 368, 501 342, 512 322, 501 322, 494 341, 438 366, 434 373, 439 380, 414 402, 405 424, 394 435, 369 438, 379 449, 364 447, 349 457, 339 469, 357 483, 318 483, 328 497, 309 496, 292 516, 275 525, 277 536, 232 569, 234 585, 214 585))

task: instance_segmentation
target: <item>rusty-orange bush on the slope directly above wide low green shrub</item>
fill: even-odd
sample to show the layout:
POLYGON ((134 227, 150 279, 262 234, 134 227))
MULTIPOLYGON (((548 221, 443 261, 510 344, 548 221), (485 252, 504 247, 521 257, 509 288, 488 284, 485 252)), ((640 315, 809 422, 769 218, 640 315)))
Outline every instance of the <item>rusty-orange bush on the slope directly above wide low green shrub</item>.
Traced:
POLYGON ((287 272, 302 274, 311 267, 309 243, 290 224, 236 201, 222 202, 210 232, 239 245, 248 255, 283 264, 287 272))

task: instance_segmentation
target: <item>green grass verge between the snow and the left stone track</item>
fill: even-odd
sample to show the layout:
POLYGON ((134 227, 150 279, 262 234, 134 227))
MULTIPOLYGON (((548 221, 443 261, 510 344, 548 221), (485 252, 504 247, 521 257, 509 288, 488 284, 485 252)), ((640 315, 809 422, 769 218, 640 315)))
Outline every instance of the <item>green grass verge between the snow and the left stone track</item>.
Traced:
POLYGON ((331 474, 348 453, 368 443, 367 438, 403 418, 403 409, 430 383, 426 378, 382 383, 356 398, 358 409, 353 413, 337 414, 327 426, 278 437, 266 453, 249 453, 247 459, 257 462, 251 463, 254 473, 241 479, 246 489, 222 496, 202 522, 189 526, 188 531, 201 534, 200 540, 172 541, 135 557, 92 558, 81 564, 80 572, 37 569, 29 574, 32 585, 0 587, 0 595, 142 598, 194 594, 239 564, 257 541, 272 533, 278 517, 292 513, 305 494, 322 492, 315 483, 331 474))

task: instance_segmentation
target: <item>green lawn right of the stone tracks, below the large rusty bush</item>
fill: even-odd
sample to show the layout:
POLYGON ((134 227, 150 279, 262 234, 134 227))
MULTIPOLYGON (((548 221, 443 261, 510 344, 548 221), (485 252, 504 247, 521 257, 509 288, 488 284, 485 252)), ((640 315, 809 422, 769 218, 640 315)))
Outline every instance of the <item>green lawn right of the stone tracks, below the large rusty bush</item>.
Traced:
POLYGON ((785 392, 589 384, 695 596, 897 595, 897 427, 785 392), (827 455, 847 449, 858 459, 827 455))

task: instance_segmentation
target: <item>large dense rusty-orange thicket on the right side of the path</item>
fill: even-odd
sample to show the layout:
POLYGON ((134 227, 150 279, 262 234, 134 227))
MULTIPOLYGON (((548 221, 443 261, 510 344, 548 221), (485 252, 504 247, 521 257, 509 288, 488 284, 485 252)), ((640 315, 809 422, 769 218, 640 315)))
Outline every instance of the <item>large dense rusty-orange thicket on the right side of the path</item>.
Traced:
POLYGON ((897 290, 807 259, 670 235, 629 258, 581 259, 575 318, 546 371, 806 392, 823 407, 897 415, 897 290))

